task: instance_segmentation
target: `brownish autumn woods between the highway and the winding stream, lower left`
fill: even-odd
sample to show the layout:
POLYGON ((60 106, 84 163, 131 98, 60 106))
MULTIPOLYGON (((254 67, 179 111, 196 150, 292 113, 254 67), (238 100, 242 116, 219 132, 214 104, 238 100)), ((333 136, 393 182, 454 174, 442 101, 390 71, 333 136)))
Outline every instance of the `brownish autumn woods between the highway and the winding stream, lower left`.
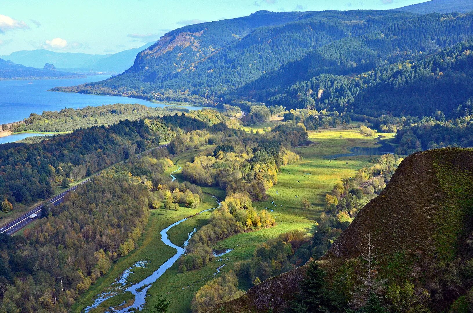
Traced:
POLYGON ((148 197, 143 185, 97 177, 24 236, 0 234, 0 311, 67 312, 115 259, 134 249, 148 222, 148 197))

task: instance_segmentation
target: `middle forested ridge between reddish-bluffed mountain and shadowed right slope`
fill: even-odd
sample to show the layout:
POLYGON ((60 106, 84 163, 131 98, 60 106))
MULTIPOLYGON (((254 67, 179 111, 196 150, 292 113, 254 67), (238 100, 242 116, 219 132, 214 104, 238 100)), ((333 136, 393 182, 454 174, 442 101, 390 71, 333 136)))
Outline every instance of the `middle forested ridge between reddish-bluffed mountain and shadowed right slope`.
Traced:
MULTIPOLYGON (((455 17, 429 14, 394 23, 379 32, 344 38, 308 53, 299 61, 290 62, 280 70, 264 74, 237 90, 236 95, 251 95, 259 101, 275 95, 270 98, 273 103, 285 103, 289 108, 310 107, 315 103, 309 98, 324 96, 318 90, 324 92, 325 88, 337 87, 340 85, 338 80, 351 81, 357 74, 377 70, 386 64, 419 58, 468 40, 473 35, 472 21, 471 14, 455 17), (319 87, 314 86, 316 89, 307 88, 301 95, 291 93, 291 88, 304 85, 314 78, 321 80, 319 87), (290 104, 287 104, 288 100, 290 104)), ((328 94, 318 99, 318 103, 345 105, 355 94, 356 90, 343 96, 328 94)))

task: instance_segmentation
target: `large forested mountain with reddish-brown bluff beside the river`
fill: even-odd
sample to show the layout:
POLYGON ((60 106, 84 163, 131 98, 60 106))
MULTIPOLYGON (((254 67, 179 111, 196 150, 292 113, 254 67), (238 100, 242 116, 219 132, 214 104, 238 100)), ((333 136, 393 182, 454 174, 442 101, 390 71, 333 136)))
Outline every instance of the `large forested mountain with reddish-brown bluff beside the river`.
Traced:
POLYGON ((278 70, 314 48, 379 31, 410 16, 368 10, 259 11, 249 17, 185 26, 141 52, 123 74, 61 90, 175 100, 181 94, 217 100, 228 90, 278 70))

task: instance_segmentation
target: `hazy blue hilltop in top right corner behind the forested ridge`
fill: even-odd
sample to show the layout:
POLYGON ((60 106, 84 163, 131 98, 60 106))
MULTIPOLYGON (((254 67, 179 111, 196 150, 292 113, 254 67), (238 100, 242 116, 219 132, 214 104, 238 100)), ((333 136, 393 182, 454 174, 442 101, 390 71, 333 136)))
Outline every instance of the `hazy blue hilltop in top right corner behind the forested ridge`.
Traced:
POLYGON ((470 12, 473 11, 471 0, 431 0, 427 2, 412 4, 406 7, 394 9, 396 11, 411 12, 417 14, 427 14, 432 12, 470 12))

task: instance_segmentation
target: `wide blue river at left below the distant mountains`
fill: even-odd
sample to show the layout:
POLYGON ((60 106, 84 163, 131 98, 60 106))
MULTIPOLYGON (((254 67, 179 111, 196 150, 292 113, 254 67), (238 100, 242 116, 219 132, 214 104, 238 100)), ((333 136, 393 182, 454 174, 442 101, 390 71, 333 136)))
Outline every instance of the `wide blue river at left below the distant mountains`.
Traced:
MULTIPOLYGON (((41 114, 43 111, 59 111, 64 108, 78 109, 88 105, 137 103, 152 107, 166 106, 166 104, 128 97, 47 91, 53 87, 76 86, 109 77, 96 75, 85 78, 2 80, 0 81, 0 124, 22 121, 30 113, 41 114)), ((185 107, 190 110, 201 109, 197 106, 185 107)))

